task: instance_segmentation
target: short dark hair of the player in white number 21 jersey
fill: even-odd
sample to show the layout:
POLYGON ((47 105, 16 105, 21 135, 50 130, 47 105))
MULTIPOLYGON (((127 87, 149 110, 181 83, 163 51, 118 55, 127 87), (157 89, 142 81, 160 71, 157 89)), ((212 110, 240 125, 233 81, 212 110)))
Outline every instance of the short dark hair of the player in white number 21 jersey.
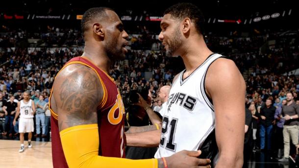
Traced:
POLYGON ((192 3, 177 3, 165 10, 164 15, 171 14, 173 18, 184 19, 190 18, 194 22, 199 34, 204 33, 204 17, 196 5, 192 3))

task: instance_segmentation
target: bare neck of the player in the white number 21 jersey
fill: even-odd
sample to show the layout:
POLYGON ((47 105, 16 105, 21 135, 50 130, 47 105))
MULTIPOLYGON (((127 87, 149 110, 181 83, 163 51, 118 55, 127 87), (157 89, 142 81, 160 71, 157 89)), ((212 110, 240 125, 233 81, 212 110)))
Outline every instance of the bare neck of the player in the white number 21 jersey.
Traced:
POLYGON ((213 53, 207 48, 203 39, 190 40, 184 45, 186 49, 181 57, 184 61, 186 72, 193 72, 213 53))

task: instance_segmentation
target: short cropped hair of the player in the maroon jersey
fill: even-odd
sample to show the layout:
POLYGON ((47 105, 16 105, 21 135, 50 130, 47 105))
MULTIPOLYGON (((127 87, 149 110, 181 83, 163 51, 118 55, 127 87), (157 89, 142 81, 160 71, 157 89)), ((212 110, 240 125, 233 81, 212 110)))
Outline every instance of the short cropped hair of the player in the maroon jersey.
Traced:
POLYGON ((81 20, 81 30, 82 30, 82 34, 84 36, 85 31, 88 30, 88 22, 94 20, 95 18, 103 18, 103 17, 107 17, 107 13, 106 10, 112 10, 111 8, 108 7, 94 7, 94 8, 90 8, 88 9, 82 16, 82 20, 81 20))

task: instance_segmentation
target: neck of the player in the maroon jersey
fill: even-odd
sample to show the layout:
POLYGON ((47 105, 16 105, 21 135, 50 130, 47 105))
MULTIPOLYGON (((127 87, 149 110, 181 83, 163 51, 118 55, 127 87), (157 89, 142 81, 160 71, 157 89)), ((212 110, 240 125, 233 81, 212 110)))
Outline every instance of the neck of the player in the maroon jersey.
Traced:
POLYGON ((87 58, 102 71, 109 73, 111 60, 103 48, 85 45, 84 52, 81 56, 87 58))

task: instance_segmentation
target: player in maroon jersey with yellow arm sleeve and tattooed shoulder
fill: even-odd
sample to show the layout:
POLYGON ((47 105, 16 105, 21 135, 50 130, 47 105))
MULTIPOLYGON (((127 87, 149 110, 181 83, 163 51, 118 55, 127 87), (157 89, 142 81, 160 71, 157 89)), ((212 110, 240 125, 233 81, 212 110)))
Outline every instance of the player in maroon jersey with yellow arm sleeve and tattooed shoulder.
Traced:
POLYGON ((124 105, 107 72, 125 58, 128 35, 118 15, 104 7, 87 10, 81 28, 84 53, 57 74, 50 96, 53 167, 208 168, 209 160, 196 158, 200 151, 125 159, 124 105))

